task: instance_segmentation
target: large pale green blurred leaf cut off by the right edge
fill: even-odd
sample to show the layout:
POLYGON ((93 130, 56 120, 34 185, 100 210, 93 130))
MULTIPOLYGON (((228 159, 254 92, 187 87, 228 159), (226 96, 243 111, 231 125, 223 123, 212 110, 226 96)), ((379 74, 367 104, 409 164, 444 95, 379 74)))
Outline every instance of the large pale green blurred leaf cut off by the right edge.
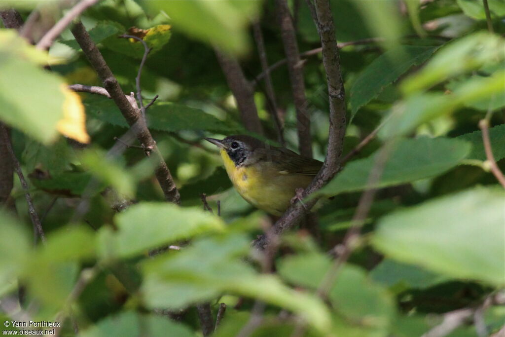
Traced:
POLYGON ((505 218, 501 188, 475 188, 380 219, 372 243, 387 257, 440 274, 502 286, 505 218))

